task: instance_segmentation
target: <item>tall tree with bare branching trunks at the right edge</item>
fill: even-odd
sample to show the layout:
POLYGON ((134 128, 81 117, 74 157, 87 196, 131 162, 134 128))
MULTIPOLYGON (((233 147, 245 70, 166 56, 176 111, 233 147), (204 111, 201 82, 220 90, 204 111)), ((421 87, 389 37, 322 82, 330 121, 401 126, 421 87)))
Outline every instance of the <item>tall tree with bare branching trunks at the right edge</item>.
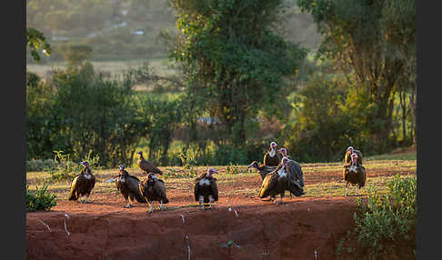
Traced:
MULTIPOLYGON (((373 115, 367 115, 367 120, 377 126, 372 127, 370 134, 379 144, 378 152, 384 152, 388 146, 397 84, 407 71, 405 60, 395 55, 397 45, 391 45, 388 37, 388 32, 396 29, 390 27, 386 31, 385 26, 388 24, 385 23, 386 15, 389 15, 386 8, 398 7, 398 3, 384 0, 297 1, 302 11, 313 15, 324 36, 319 55, 336 60, 339 70, 348 75, 348 81, 360 89, 360 95, 365 95, 370 104, 375 105, 373 115)), ((416 36, 413 32, 410 35, 416 36)))

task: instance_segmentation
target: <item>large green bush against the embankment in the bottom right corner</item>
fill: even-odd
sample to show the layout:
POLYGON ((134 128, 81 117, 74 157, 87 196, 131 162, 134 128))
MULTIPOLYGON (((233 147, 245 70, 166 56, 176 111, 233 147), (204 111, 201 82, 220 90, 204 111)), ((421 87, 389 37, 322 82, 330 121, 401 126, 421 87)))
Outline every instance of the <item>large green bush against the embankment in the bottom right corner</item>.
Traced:
MULTIPOLYGON (((344 240, 356 235, 360 250, 348 251, 367 255, 368 259, 387 254, 400 255, 402 259, 416 257, 416 177, 401 178, 396 175, 387 183, 387 188, 386 195, 379 195, 375 186, 368 187, 367 203, 357 198, 358 211, 354 215, 356 227, 344 240)), ((339 250, 342 245, 341 241, 339 250)))

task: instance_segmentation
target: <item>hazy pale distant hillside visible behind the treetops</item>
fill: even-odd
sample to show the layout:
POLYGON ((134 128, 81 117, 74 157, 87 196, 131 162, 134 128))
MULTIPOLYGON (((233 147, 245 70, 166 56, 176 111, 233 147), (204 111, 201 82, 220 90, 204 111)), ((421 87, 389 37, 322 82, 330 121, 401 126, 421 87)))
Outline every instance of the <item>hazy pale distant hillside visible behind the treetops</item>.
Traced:
MULTIPOLYGON (((300 14, 296 0, 285 4, 286 38, 316 49, 320 36, 311 15, 300 14)), ((57 49, 68 44, 89 45, 95 61, 131 60, 166 57, 158 35, 175 30, 175 15, 166 0, 29 0, 26 26, 43 30, 53 46, 44 62, 62 61, 57 49)))

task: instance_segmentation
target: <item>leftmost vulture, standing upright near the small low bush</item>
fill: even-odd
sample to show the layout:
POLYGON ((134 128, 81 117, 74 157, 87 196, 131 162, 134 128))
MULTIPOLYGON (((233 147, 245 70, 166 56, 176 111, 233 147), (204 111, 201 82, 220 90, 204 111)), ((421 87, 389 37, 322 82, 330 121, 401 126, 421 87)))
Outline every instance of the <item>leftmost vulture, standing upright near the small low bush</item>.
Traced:
POLYGON ((89 162, 84 161, 79 165, 83 166, 81 173, 79 175, 75 175, 74 179, 71 183, 71 192, 69 195, 69 200, 80 200, 81 197, 85 195, 85 203, 89 203, 89 195, 91 195, 91 191, 95 186, 95 176, 92 174, 89 169, 89 162))

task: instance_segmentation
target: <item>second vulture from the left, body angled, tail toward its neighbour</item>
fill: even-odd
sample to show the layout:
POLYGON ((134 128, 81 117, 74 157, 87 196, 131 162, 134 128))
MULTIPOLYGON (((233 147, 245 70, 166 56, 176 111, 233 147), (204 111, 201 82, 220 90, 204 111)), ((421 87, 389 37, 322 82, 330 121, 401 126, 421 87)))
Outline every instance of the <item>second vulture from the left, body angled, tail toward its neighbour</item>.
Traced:
POLYGON ((140 180, 136 176, 129 175, 125 170, 125 165, 120 165, 119 168, 120 171, 116 176, 116 188, 126 199, 127 205, 125 207, 132 207, 131 202, 134 203, 134 199, 139 203, 146 203, 146 198, 140 193, 140 180))

